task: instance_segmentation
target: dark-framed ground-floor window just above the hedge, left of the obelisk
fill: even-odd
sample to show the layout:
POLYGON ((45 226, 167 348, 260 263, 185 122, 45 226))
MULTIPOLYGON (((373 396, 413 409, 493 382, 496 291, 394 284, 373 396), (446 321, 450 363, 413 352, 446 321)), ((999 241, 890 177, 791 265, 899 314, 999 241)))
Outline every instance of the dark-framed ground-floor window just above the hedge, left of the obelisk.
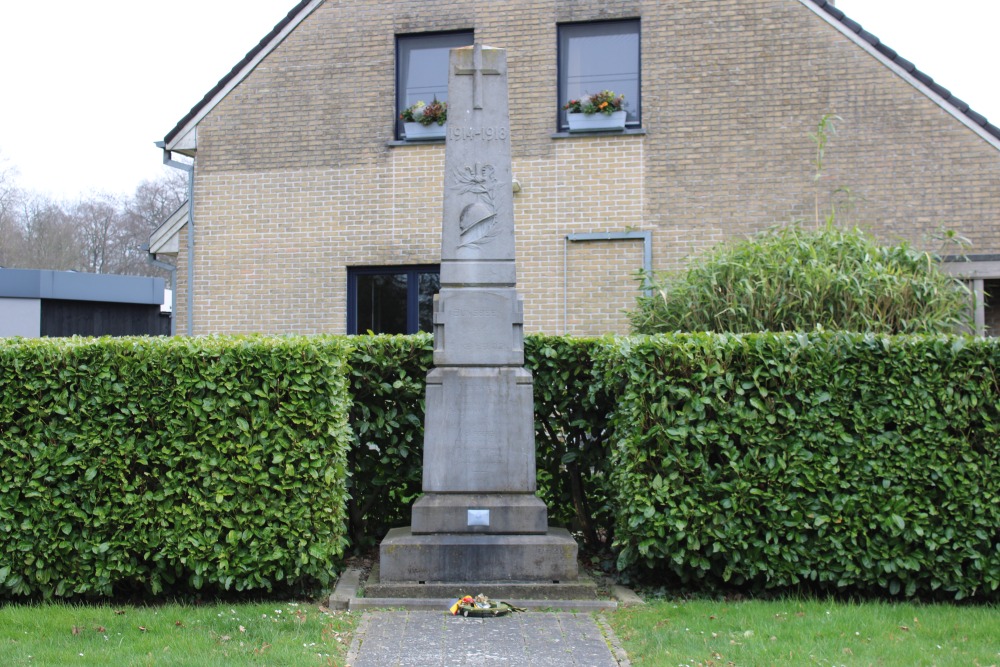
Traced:
POLYGON ((347 333, 431 331, 440 269, 379 266, 347 270, 347 333))

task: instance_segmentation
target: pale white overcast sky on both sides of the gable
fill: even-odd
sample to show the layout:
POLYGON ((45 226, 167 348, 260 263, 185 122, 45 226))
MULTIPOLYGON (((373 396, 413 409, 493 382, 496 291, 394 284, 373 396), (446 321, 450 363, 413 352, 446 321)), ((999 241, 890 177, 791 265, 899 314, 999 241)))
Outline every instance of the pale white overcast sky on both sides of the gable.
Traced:
MULTIPOLYGON (((154 142, 295 4, 0 0, 0 169, 56 199, 131 194, 166 169, 154 142)), ((1000 3, 837 7, 1000 125, 1000 3)))

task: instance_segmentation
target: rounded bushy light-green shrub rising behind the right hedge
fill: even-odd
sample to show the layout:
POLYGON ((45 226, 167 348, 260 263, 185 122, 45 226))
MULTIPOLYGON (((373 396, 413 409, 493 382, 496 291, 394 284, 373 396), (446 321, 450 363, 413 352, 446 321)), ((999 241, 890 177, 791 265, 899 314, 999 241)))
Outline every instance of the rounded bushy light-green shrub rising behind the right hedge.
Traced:
POLYGON ((861 230, 787 225, 722 244, 687 271, 644 276, 636 333, 857 331, 951 333, 970 296, 926 252, 861 230))

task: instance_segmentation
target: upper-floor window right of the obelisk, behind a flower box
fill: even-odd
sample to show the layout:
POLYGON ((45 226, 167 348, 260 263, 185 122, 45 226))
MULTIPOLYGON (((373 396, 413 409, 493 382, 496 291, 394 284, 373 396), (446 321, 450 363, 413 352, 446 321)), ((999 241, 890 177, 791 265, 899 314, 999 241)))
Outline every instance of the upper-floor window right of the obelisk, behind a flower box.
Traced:
POLYGON ((640 125, 639 21, 559 26, 559 129, 566 102, 602 90, 625 95, 626 127, 640 125))

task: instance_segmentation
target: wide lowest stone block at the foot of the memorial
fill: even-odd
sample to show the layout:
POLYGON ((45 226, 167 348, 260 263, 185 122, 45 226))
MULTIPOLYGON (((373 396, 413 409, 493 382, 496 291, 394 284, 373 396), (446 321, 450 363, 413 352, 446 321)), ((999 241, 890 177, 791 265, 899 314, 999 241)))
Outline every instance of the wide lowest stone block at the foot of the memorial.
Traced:
POLYGON ((379 546, 381 582, 564 582, 579 575, 565 528, 544 535, 414 535, 393 528, 379 546))

